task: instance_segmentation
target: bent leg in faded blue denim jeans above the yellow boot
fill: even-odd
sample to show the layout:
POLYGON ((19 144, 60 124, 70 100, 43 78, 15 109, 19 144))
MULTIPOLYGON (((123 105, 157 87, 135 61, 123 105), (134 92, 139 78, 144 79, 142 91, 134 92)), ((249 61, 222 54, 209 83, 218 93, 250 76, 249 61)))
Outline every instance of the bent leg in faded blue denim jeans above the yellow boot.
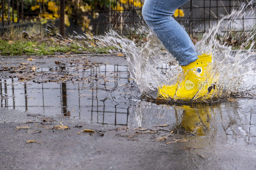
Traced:
POLYGON ((142 15, 167 50, 186 66, 198 59, 195 46, 185 29, 172 17, 188 0, 146 0, 142 15))

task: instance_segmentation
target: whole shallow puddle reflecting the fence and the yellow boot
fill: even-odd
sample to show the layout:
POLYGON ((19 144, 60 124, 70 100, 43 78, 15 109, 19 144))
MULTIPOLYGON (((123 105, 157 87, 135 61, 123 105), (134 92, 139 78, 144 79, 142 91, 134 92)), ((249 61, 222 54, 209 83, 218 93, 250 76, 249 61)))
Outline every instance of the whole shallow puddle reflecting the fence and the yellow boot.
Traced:
POLYGON ((141 97, 125 64, 98 64, 86 69, 61 67, 41 68, 37 72, 47 75, 62 70, 74 76, 73 82, 1 79, 1 107, 45 116, 63 116, 75 109, 67 119, 129 128, 168 124, 167 128, 177 129, 178 133, 256 143, 256 101, 253 97, 212 104, 152 102, 141 97), (90 83, 89 77, 93 77, 90 83))

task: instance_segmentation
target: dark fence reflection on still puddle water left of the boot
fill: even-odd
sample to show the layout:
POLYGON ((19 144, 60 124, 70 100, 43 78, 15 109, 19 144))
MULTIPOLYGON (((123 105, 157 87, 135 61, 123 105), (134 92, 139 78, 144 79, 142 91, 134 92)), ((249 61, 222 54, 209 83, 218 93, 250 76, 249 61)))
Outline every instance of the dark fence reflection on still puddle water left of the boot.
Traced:
MULTIPOLYGON (((67 69, 67 68, 66 68, 67 69)), ((48 71, 49 69, 42 69, 48 71)), ((74 72, 72 72, 74 73, 74 72)), ((76 118, 99 123, 127 125, 129 90, 135 86, 126 66, 99 65, 76 72, 81 78, 105 75, 106 79, 86 81, 33 83, 10 78, 1 80, 1 107, 20 109, 43 115, 72 111, 76 118)))

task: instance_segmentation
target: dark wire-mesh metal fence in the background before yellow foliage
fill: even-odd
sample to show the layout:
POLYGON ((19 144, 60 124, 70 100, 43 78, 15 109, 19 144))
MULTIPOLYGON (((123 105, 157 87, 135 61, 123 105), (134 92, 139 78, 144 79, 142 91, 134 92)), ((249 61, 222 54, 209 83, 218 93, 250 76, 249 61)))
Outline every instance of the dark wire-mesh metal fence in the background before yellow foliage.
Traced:
MULTIPOLYGON (((1 24, 3 30, 6 30, 10 25, 20 26, 22 24, 39 24, 40 28, 44 28, 42 18, 45 15, 49 15, 49 12, 45 12, 42 9, 42 3, 49 2, 49 0, 34 0, 39 5, 37 12, 28 9, 24 9, 24 3, 27 0, 1 0, 1 24), (14 18, 17 16, 17 19, 14 18), (36 18, 35 22, 29 22, 28 18, 36 18)), ((72 7, 67 6, 68 0, 53 0, 58 5, 58 10, 51 14, 57 15, 54 19, 56 21, 55 26, 59 27, 61 35, 67 35, 76 31, 76 33, 83 33, 83 23, 79 23, 79 18, 87 17, 87 24, 92 33, 103 34, 109 29, 115 29, 120 34, 132 35, 133 31, 130 27, 136 27, 143 24, 143 18, 141 17, 141 9, 144 0, 83 0, 88 2, 88 10, 82 11, 79 2, 82 0, 72 0, 75 2, 72 7), (124 3, 126 2, 126 4, 124 3), (100 3, 100 5, 99 5, 100 3), (121 5, 120 5, 121 3, 121 5), (139 3, 139 5, 138 5, 139 3), (125 5, 125 8, 123 7, 125 5), (67 8, 72 9, 67 13, 67 8), (70 22, 69 26, 65 26, 65 15, 68 16, 70 22)), ((195 33, 205 33, 212 24, 216 23, 224 15, 231 12, 232 9, 239 8, 241 3, 248 3, 247 0, 191 0, 184 4, 179 9, 184 12, 184 17, 180 15, 175 19, 183 25, 190 35, 195 33)), ((253 7, 255 8, 255 7, 253 7)), ((240 31, 248 31, 244 26, 246 20, 252 20, 255 25, 256 16, 251 14, 247 17, 240 18, 242 20, 242 28, 240 31)), ((41 30, 41 29, 40 29, 41 30)))

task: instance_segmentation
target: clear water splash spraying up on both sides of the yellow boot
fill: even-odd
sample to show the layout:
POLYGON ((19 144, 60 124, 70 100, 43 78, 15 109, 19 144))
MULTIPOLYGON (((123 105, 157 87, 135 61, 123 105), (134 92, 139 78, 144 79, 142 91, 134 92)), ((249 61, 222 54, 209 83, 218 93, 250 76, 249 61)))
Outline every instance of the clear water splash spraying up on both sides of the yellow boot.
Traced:
MULTIPOLYGON (((196 44, 198 54, 212 54, 213 62, 208 72, 218 76, 216 84, 221 85, 221 89, 216 88, 212 95, 217 99, 237 94, 237 92, 243 93, 248 89, 243 78, 255 67, 255 54, 252 50, 255 47, 256 31, 255 27, 249 28, 247 34, 237 31, 241 31, 239 25, 243 22, 241 18, 245 15, 245 11, 247 14, 254 13, 251 7, 253 3, 255 1, 247 5, 242 3, 238 10, 233 10, 204 33, 202 40, 196 44), (241 40, 243 42, 241 49, 234 52, 231 46, 223 42, 227 38, 234 41, 237 36, 243 37, 241 40), (244 47, 248 49, 244 51, 242 49, 244 47)), ((159 86, 175 84, 177 78, 182 76, 182 69, 169 52, 163 53, 162 49, 165 49, 163 44, 148 27, 141 26, 134 31, 138 36, 146 34, 147 41, 136 43, 118 35, 115 31, 110 31, 105 36, 96 36, 94 39, 99 40, 98 45, 114 45, 123 51, 126 54, 132 78, 139 85, 140 90, 147 97, 156 98, 159 86)), ((205 98, 202 97, 200 100, 205 98)))

